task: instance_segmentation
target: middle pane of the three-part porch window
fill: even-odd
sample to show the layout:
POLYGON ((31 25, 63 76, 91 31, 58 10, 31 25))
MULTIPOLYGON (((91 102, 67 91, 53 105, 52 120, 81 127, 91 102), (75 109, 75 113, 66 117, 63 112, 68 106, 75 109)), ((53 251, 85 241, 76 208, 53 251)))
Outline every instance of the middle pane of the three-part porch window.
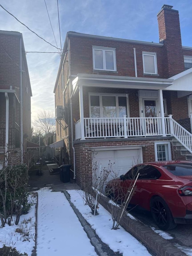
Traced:
POLYGON ((116 97, 102 96, 103 117, 117 117, 116 97))

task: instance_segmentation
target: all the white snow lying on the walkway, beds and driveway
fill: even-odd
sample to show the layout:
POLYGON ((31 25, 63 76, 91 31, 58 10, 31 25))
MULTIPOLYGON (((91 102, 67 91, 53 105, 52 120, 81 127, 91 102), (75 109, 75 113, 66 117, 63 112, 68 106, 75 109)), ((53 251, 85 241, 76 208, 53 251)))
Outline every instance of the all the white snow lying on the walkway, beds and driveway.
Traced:
MULTIPOLYGON (((80 193, 81 190, 68 190, 71 202, 76 206, 82 216, 95 230, 100 239, 114 251, 123 256, 149 256, 151 255, 145 246, 126 232, 122 227, 111 230, 112 219, 110 213, 100 205, 99 215, 93 216, 90 208, 84 205, 80 193)), ((33 200, 34 197, 29 198, 33 200)), ((132 215, 130 215, 131 217, 132 215)), ((134 219, 134 218, 133 218, 134 219)), ((156 230, 165 239, 172 239, 168 233, 156 230)), ((38 191, 38 256, 96 256, 94 247, 81 226, 76 214, 71 208, 67 198, 61 192, 51 192, 49 188, 38 191)), ((21 215, 19 225, 13 224, 0 229, 0 247, 3 244, 16 247, 22 253, 31 256, 35 237, 35 204, 27 215, 21 215), (21 228, 29 236, 15 232, 21 228), (26 241, 25 241, 26 240, 26 241)), ((187 255, 192 256, 192 249, 176 245, 187 255)))

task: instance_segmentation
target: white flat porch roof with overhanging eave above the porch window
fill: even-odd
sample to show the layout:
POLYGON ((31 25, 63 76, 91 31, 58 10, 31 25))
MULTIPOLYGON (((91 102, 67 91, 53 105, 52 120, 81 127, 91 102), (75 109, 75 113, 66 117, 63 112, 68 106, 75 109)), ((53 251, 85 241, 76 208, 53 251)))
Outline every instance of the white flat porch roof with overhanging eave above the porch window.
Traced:
POLYGON ((76 91, 78 85, 157 90, 172 85, 173 79, 78 74, 72 83, 73 92, 76 91))

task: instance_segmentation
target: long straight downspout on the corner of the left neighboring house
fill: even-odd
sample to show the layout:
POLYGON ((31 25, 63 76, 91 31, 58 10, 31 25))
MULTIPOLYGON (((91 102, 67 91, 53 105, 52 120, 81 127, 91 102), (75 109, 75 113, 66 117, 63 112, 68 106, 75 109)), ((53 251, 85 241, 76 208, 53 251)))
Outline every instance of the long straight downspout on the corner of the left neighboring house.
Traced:
POLYGON ((22 99, 22 52, 20 38, 20 116, 21 116, 21 163, 23 163, 23 99, 22 99))

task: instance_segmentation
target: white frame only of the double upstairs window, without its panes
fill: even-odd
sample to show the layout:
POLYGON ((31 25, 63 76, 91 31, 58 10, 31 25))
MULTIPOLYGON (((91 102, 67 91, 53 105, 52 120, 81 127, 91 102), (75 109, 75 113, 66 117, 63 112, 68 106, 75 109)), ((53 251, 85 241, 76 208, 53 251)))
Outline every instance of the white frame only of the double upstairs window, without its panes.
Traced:
POLYGON ((95 70, 105 70, 105 71, 117 71, 116 67, 116 49, 115 48, 109 48, 109 47, 101 47, 101 46, 92 46, 92 52, 93 52, 93 69, 95 70), (95 54, 94 50, 102 50, 103 52, 103 68, 95 68, 95 54), (114 69, 106 69, 106 62, 105 62, 105 51, 113 52, 113 65, 114 69))

